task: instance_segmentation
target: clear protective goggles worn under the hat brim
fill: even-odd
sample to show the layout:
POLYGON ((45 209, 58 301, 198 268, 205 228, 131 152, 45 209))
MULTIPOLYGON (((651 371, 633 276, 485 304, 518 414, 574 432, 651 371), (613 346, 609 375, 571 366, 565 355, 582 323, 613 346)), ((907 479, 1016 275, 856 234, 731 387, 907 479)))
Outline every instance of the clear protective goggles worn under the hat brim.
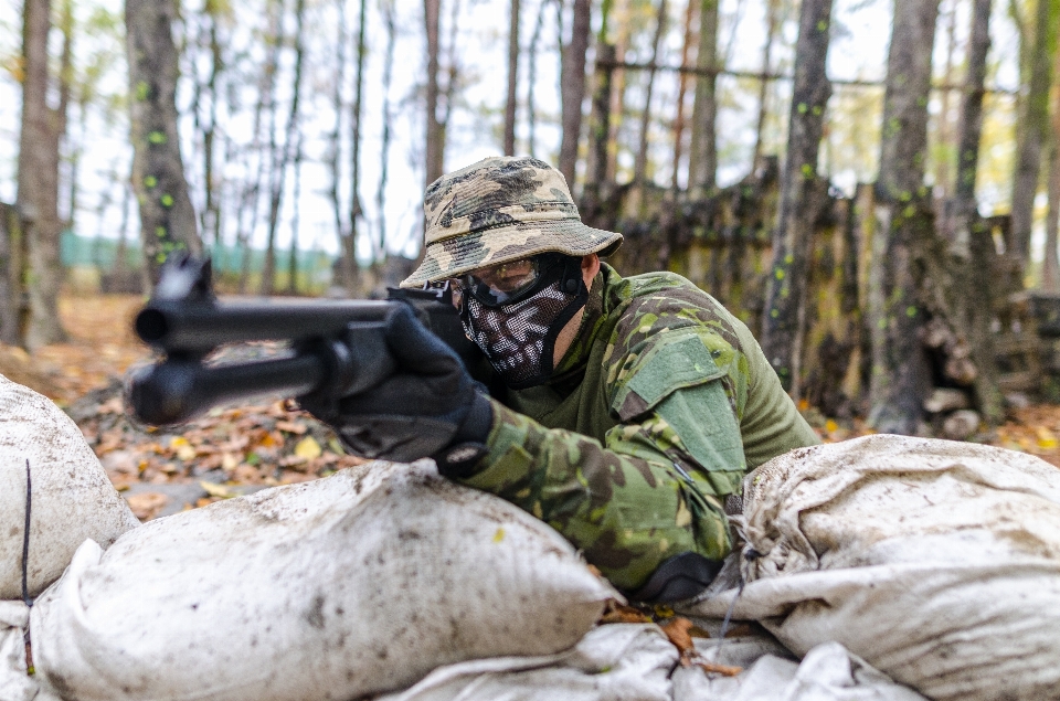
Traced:
MULTIPOLYGON (((569 258, 563 254, 543 253, 531 258, 487 265, 445 282, 453 290, 453 304, 457 308, 463 307, 466 295, 474 296, 487 307, 499 307, 526 299, 551 284, 555 276, 550 273, 569 258)), ((576 258, 571 259, 577 263, 576 258)))

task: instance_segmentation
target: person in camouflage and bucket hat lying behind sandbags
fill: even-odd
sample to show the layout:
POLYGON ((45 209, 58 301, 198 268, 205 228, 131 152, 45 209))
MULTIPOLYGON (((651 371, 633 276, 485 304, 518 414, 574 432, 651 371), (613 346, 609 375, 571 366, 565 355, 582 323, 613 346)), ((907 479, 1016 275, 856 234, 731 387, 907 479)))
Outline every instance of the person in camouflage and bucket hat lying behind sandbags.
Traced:
POLYGON ((451 289, 491 396, 399 310, 394 375, 325 418, 359 455, 432 456, 529 511, 634 601, 701 592, 732 549, 725 502, 746 471, 818 443, 746 326, 678 275, 602 263, 622 235, 583 224, 543 161, 444 176, 424 214, 402 287, 451 289))

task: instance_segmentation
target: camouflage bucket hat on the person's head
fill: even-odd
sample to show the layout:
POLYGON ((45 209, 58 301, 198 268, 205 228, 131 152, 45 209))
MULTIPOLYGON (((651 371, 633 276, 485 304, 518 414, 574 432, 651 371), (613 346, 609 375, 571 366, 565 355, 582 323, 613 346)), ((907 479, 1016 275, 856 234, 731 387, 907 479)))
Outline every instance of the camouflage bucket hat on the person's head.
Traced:
POLYGON ((566 180, 536 158, 487 158, 443 176, 423 212, 423 264, 402 287, 539 253, 607 255, 622 243, 622 234, 583 224, 566 180))

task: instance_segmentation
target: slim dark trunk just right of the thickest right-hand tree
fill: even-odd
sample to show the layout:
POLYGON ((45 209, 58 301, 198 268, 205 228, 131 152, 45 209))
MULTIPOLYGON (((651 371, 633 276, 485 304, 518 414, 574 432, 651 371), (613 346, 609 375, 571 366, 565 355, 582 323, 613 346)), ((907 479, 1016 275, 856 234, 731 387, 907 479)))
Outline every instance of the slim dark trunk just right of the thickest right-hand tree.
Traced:
POLYGON ((996 255, 994 236, 979 222, 975 200, 975 180, 983 135, 983 95, 986 82, 986 57, 990 47, 990 6, 993 0, 974 0, 972 26, 967 44, 967 76, 957 134, 957 171, 954 182, 953 221, 947 225, 954 268, 962 275, 965 301, 957 310, 972 349, 972 362, 978 369, 975 379, 977 405, 989 424, 1004 419, 1004 405, 997 385, 994 354, 993 295, 983 279, 989 275, 996 255))

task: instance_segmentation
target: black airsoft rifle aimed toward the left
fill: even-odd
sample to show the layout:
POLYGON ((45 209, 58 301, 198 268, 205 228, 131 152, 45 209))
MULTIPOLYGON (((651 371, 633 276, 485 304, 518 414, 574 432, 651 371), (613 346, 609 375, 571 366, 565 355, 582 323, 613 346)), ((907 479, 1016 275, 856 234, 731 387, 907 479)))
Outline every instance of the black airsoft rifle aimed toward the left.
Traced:
POLYGON ((479 353, 464 334, 448 286, 390 289, 386 300, 222 302, 213 294, 209 259, 178 255, 162 269, 136 332, 165 357, 135 372, 127 389, 145 423, 176 424, 210 407, 264 393, 338 401, 385 380, 394 360, 383 336, 395 305, 420 320, 473 367, 479 353), (284 357, 212 362, 219 347, 286 341, 284 357))

